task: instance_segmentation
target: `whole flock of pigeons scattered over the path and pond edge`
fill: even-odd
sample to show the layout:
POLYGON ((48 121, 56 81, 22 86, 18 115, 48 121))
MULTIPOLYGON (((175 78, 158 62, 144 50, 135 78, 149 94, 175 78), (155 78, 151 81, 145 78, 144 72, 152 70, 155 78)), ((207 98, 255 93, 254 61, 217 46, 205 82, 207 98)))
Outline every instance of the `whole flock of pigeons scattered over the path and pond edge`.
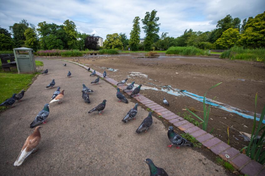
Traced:
MULTIPOLYGON (((66 66, 66 64, 64 64, 63 66, 66 66)), ((90 71, 90 68, 87 69, 88 71, 90 71)), ((42 74, 48 74, 48 69, 46 69, 45 71, 43 71, 42 74)), ((67 77, 70 77, 71 73, 70 71, 67 74, 67 77)), ((96 76, 96 71, 94 70, 90 76, 96 76)), ((107 76, 106 71, 104 71, 103 73, 103 77, 105 78, 107 76)), ((117 85, 119 84, 125 84, 126 81, 128 79, 122 80, 120 81, 117 85)), ((95 81, 92 81, 92 83, 95 84, 100 84, 99 83, 99 76, 97 77, 97 79, 95 81)), ((132 94, 130 95, 130 97, 132 96, 137 96, 137 94, 140 92, 141 89, 141 84, 136 87, 134 90, 134 81, 128 85, 123 91, 125 90, 130 90, 132 91, 132 94)), ((48 86, 46 86, 46 88, 53 88, 55 86, 55 80, 53 79, 50 84, 48 86)), ((64 98, 64 91, 62 90, 60 91, 60 87, 57 88, 57 90, 54 92, 54 94, 51 97, 51 101, 50 103, 56 102, 58 101, 58 103, 60 104, 60 101, 64 98)), ((2 104, 0 104, 0 106, 12 106, 15 102, 15 100, 21 101, 20 99, 23 98, 24 95, 24 90, 22 90, 18 95, 13 94, 13 96, 7 100, 5 100, 2 104)), ((83 84, 83 90, 82 90, 82 98, 86 103, 90 103, 90 99, 89 99, 89 94, 94 92, 93 90, 89 89, 88 87, 86 87, 85 84, 83 84)), ((117 98, 119 99, 119 102, 125 102, 128 103, 128 100, 125 98, 125 96, 121 93, 120 88, 117 88, 117 93, 116 93, 117 98)), ((99 105, 97 105, 95 108, 93 108, 92 110, 88 111, 88 113, 92 113, 94 111, 99 112, 99 115, 101 115, 101 112, 103 112, 103 110, 106 107, 106 101, 107 100, 103 100, 103 102, 99 105)), ((165 105, 169 105, 168 101, 164 98, 163 100, 165 105)), ((130 120, 135 120, 135 116, 137 115, 137 107, 138 107, 138 103, 135 104, 135 106, 130 109, 128 111, 128 113, 125 115, 125 117, 122 119, 122 122, 127 123, 127 121, 130 120)), ((39 129, 41 128, 41 126, 39 126, 40 124, 45 124, 46 123, 46 118, 49 115, 49 104, 45 104, 43 110, 41 110, 39 112, 39 114, 35 117, 34 121, 30 124, 30 128, 34 128, 35 130, 34 132, 29 135, 29 137, 26 139, 25 144, 23 145, 20 154, 18 155, 17 160, 14 163, 14 166, 19 166, 23 163, 24 159, 27 158, 32 152, 35 151, 37 145, 39 144, 39 141, 41 139, 40 136, 40 132, 39 129)), ((138 129, 136 130, 136 133, 141 133, 142 131, 144 131, 145 133, 147 132, 148 128, 152 125, 153 123, 153 118, 152 118, 152 112, 149 112, 148 116, 143 120, 143 122, 141 123, 141 125, 138 127, 138 129)), ((176 134, 174 132, 174 128, 172 126, 169 126, 169 130, 168 130, 168 138, 171 142, 171 145, 168 145, 168 147, 172 147, 172 145, 176 145, 177 149, 179 149, 179 146, 181 145, 188 145, 193 147, 193 144, 184 139, 182 136, 176 134)), ((168 174, 166 173, 166 171, 162 168, 158 168, 156 167, 151 159, 146 159, 145 162, 148 164, 149 169, 150 169, 150 175, 161 175, 161 176, 167 176, 168 174)))

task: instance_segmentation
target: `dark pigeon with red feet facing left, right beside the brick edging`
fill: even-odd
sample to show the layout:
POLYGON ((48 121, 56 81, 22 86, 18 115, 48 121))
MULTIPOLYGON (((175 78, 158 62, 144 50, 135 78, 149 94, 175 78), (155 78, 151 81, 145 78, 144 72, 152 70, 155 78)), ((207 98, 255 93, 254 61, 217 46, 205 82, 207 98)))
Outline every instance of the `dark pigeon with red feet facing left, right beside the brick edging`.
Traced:
POLYGON ((193 147, 193 144, 190 141, 174 132, 173 126, 169 126, 168 138, 171 142, 171 145, 168 145, 168 147, 172 147, 173 144, 177 145, 176 149, 180 149, 180 145, 189 145, 193 147))

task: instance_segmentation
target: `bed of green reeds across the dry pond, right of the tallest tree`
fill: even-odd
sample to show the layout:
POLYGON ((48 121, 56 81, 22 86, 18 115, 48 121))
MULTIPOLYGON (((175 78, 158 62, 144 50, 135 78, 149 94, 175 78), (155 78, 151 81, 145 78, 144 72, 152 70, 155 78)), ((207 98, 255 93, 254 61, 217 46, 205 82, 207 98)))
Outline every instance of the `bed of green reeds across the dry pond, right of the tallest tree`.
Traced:
POLYGON ((208 56, 208 50, 198 49, 194 46, 172 46, 167 51, 166 54, 176 54, 184 56, 208 56))

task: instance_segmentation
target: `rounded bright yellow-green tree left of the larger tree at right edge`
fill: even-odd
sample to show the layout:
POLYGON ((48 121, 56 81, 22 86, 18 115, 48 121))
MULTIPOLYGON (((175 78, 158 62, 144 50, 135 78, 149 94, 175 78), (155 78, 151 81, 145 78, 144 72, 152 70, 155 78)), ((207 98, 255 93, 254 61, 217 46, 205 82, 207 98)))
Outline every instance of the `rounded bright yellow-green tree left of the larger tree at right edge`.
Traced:
POLYGON ((232 27, 223 32, 222 36, 215 42, 217 49, 229 49, 236 44, 240 38, 239 29, 232 27))

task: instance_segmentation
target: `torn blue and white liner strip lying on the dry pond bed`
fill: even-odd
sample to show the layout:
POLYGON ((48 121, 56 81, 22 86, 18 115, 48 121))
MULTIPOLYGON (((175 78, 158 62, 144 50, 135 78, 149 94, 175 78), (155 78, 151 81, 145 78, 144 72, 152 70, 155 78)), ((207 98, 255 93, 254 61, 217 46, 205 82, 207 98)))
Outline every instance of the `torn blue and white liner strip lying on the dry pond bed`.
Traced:
MULTIPOLYGON (((148 82, 146 82, 148 83, 148 82)), ((126 83, 127 85, 129 85, 130 83, 126 83)), ((153 85, 153 86, 157 86, 155 84, 152 84, 152 83, 148 83, 150 85, 153 85)), ((134 84, 134 86, 139 86, 137 84, 134 84)), ((187 97, 190 97, 192 99, 195 99, 197 101, 200 101, 200 102, 203 102, 203 96, 200 96, 200 95, 196 95, 196 94, 193 94, 191 92, 188 92, 187 90, 179 90, 179 89, 176 89, 176 88, 172 88, 170 85, 167 85, 167 86, 157 86, 159 88, 156 88, 156 87, 148 87, 148 86, 142 86, 141 87, 141 90, 156 90, 156 91, 162 91, 162 92, 166 92, 170 95, 175 95, 175 96, 187 96, 187 97), (164 89, 165 88, 165 89, 164 89)), ((233 106, 230 106, 230 105, 227 105, 227 104, 224 104, 224 103, 221 103, 221 102, 218 102, 218 101, 215 101, 215 100, 212 100, 212 99, 209 99, 209 98, 206 98, 205 97, 205 104, 208 104, 208 105, 211 105, 211 106, 215 106, 219 109, 222 109, 222 110, 225 110, 227 112, 231 112, 231 113, 235 113, 237 115, 240 115, 244 118, 247 118, 247 119, 252 119, 254 120, 254 112, 251 112, 251 111, 248 111, 248 110, 243 110, 243 109, 240 109, 240 108, 236 108, 236 107, 233 107, 233 106)), ((259 121, 260 120, 260 115, 261 114, 257 114, 256 113, 256 120, 259 121)), ((262 123, 265 124, 265 120, 262 120, 262 123)))

